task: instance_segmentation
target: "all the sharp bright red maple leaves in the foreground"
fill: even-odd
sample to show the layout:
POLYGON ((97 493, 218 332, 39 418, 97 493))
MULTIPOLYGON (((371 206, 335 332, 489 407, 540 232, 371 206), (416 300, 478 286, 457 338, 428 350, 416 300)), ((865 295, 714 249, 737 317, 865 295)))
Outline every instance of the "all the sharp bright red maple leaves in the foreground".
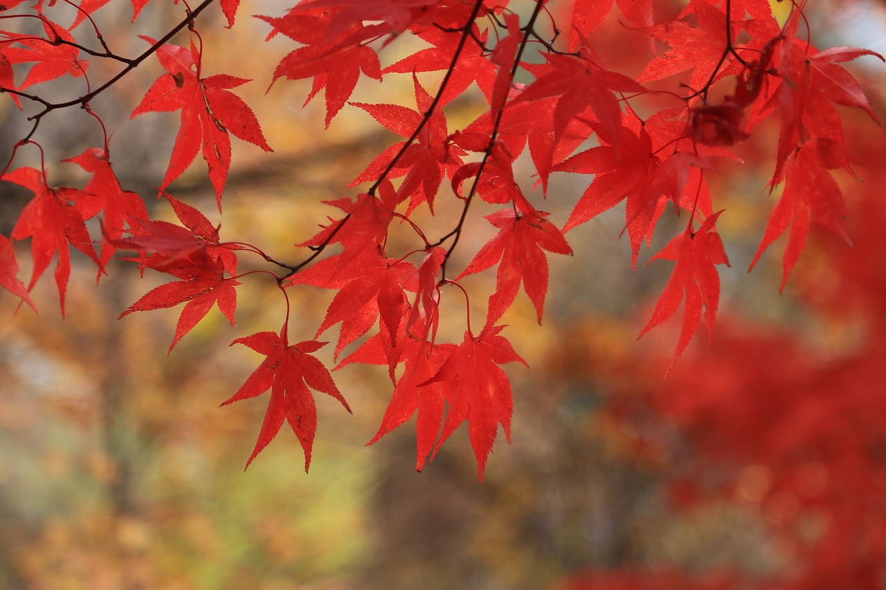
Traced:
MULTIPOLYGON (((35 126, 45 115, 70 105, 81 105, 97 117, 89 100, 156 54, 166 73, 147 90, 133 115, 181 112, 159 190, 166 194, 202 153, 221 210, 231 160, 230 135, 266 151, 270 148, 253 112, 231 92, 247 81, 202 71, 204 48, 196 17, 213 0, 188 9, 181 23, 159 41, 143 37, 151 47, 134 59, 115 56, 106 47, 104 53, 87 51, 74 40, 73 32, 82 33, 85 17, 105 1, 84 1, 78 18, 67 28, 52 21, 51 5, 38 1, 32 10, 42 20, 45 35, 0 33, 4 92, 17 105, 27 99, 43 106, 43 112, 35 116, 35 126), (190 31, 187 48, 169 43, 185 28, 190 31), (65 74, 89 81, 89 62, 81 58, 84 53, 117 58, 124 69, 111 81, 66 103, 51 103, 26 92, 65 74), (17 70, 32 62, 35 65, 25 80, 17 83, 17 70)), ((134 18, 145 4, 146 0, 134 0, 134 18)), ((139 254, 130 260, 176 280, 150 291, 124 314, 184 303, 175 345, 215 305, 233 323, 239 284, 235 251, 260 254, 278 268, 253 276, 273 276, 284 295, 303 285, 337 291, 314 337, 340 323, 336 357, 377 325, 377 332, 342 362, 388 367, 394 394, 372 442, 417 413, 416 466, 421 469, 467 421, 482 479, 499 425, 509 437, 513 401, 501 365, 523 362, 502 335, 504 326, 499 322, 517 298, 521 283, 541 322, 548 292, 546 252, 572 253, 564 231, 625 202, 625 230, 635 267, 641 245, 650 244, 668 203, 687 214, 686 229, 653 257, 676 264, 643 330, 664 322, 685 301, 676 361, 702 314, 710 335, 719 304, 717 266, 728 264, 715 227, 722 212, 714 213, 705 172, 715 169, 718 158, 736 159, 733 144, 749 137, 761 120, 778 113, 781 136, 769 184, 773 188, 783 185, 783 190, 754 263, 790 225, 784 259, 787 280, 804 247, 809 221, 818 221, 848 240, 843 198, 830 171, 851 170, 852 158, 845 149, 834 105, 857 107, 873 116, 858 84, 839 64, 876 54, 812 47, 808 32, 800 28, 804 2, 794 5, 781 27, 767 0, 691 0, 662 22, 655 22, 651 0, 577 0, 556 17, 560 19, 556 28, 569 30, 564 42, 556 35, 548 38, 540 33, 540 21, 548 18, 542 18, 548 12, 546 2, 529 4, 530 15, 521 19, 507 0, 302 0, 284 16, 259 17, 271 27, 268 36, 282 34, 298 44, 276 66, 272 82, 280 78, 311 81, 307 101, 323 90, 327 126, 351 99, 361 73, 378 81, 389 74, 412 74, 416 110, 403 105, 353 104, 405 140, 379 154, 351 184, 369 184, 366 190, 356 198, 329 201, 345 214, 330 218, 315 237, 299 244, 312 251, 305 260, 283 263, 277 261, 283 257, 271 258, 255 246, 221 243, 206 217, 175 198, 167 197, 180 225, 149 220, 144 207, 136 204, 137 198, 122 190, 113 176, 105 141, 103 150, 87 151, 72 160, 94 174, 83 190, 50 189, 45 171, 33 168, 3 175, 34 190, 36 197, 12 234, 12 240, 33 237, 34 275, 26 289, 16 278, 12 244, 4 240, 0 242, 2 284, 30 303, 27 291, 58 252, 56 278, 64 305, 69 245, 86 252, 100 271, 117 249, 134 250, 139 254), (591 42, 614 4, 634 31, 649 38, 650 50, 656 43, 667 47, 662 55, 650 53, 636 77, 610 70, 591 42), (431 47, 383 66, 380 55, 385 47, 406 34, 431 47), (524 60, 533 48, 540 50, 543 59, 524 60), (515 83, 519 70, 530 75, 532 82, 515 83), (441 73, 439 86, 425 88, 418 81, 419 72, 441 73), (661 97, 658 101, 648 98, 662 93, 653 93, 644 84, 674 76, 680 77, 680 84, 665 93, 672 105, 652 108, 661 97), (708 102, 711 89, 727 77, 735 78, 733 94, 722 103, 708 102), (486 105, 476 120, 450 131, 444 108, 474 83, 486 105), (588 142, 595 147, 576 152, 588 142), (555 172, 594 175, 562 230, 521 189, 515 163, 527 146, 543 193, 555 172), (446 178, 451 192, 446 190, 446 178), (461 200, 459 220, 443 229, 419 228, 410 218, 412 213, 425 203, 433 213, 440 198, 461 200), (455 260, 452 254, 461 243, 465 220, 477 209, 471 205, 478 200, 498 207, 486 215, 498 232, 455 279, 449 279, 448 266, 455 260), (84 221, 102 211, 105 231, 99 255, 84 221), (402 222, 394 224, 394 220, 402 222), (388 252, 388 234, 397 226, 414 240, 413 250, 388 252), (316 260, 332 248, 337 253, 316 260), (467 296, 462 278, 493 268, 496 286, 488 299, 482 330, 475 333, 466 318, 461 344, 439 343, 443 294, 462 291, 467 296)), ((234 26, 237 0, 221 0, 221 9, 229 27, 234 26)), ((104 43, 93 27, 97 41, 104 43)), ((30 136, 19 145, 29 143, 30 136)), ((286 297, 287 317, 279 333, 259 332, 235 340, 266 359, 229 401, 271 390, 268 414, 249 461, 276 436, 285 419, 304 447, 307 468, 316 426, 308 388, 345 401, 310 355, 323 343, 311 339, 289 345, 286 297)))

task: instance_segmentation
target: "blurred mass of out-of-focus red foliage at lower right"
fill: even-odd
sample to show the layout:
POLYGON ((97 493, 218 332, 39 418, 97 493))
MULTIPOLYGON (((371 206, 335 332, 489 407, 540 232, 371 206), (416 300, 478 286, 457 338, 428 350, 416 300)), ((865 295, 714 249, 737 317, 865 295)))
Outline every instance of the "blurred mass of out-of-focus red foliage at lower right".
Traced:
MULTIPOLYGON (((871 157, 870 166, 859 165, 868 182, 848 206, 854 248, 821 228, 815 263, 794 277, 792 296, 803 304, 797 325, 724 314, 710 348, 680 362, 664 384, 638 374, 638 364, 651 362, 638 354, 614 354, 590 376, 610 384, 611 418, 646 425, 626 446, 663 468, 676 507, 731 501, 758 511, 781 567, 756 579, 736 571, 711 587, 878 588, 886 575, 886 285, 870 272, 886 264, 879 188, 886 174, 875 163, 886 157, 886 137, 866 136, 847 130, 871 157), (664 429, 649 428, 649 410, 664 429)), ((707 581, 612 572, 578 575, 563 587, 707 581)))

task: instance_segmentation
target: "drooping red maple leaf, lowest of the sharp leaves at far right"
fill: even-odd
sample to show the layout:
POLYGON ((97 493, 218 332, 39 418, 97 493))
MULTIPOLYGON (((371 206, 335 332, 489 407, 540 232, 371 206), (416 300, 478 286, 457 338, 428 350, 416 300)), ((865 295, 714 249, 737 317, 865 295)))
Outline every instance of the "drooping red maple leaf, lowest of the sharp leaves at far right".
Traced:
POLYGON ((778 203, 766 222, 763 239, 750 262, 748 272, 757 265, 760 256, 790 226, 790 237, 782 259, 781 287, 788 283, 791 270, 797 264, 809 234, 809 221, 814 219, 823 227, 852 245, 846 228, 846 205, 840 186, 828 169, 848 167, 848 155, 842 146, 828 139, 812 139, 794 153, 778 203))

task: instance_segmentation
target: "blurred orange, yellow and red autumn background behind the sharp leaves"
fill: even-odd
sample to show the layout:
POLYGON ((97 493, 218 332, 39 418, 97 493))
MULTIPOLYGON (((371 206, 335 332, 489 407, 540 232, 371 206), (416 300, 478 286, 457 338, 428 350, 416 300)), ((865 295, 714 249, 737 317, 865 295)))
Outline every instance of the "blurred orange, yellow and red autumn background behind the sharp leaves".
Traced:
MULTIPOLYGON (((320 201, 351 196, 343 179, 398 140, 348 107, 324 131, 322 98, 301 108, 306 83, 265 92, 291 45, 258 43, 268 27, 248 15, 280 9, 244 2, 232 30, 220 13, 198 21, 205 72, 257 78, 242 96, 275 153, 236 143, 222 216, 199 159, 171 192, 221 221, 222 236, 285 258, 333 213, 320 201)), ((128 22, 129 11, 120 2, 101 14, 128 22)), ((136 28, 157 35, 178 14, 149 5, 136 28)), ((816 3, 808 14, 820 46, 886 50, 882 3, 816 3)), ((113 47, 134 38, 128 26, 103 30, 113 47)), ((625 34, 612 19, 600 35, 625 34)), ((863 61, 849 67, 886 113, 883 70, 863 61)), ((154 187, 178 115, 128 113, 157 75, 156 63, 139 68, 93 105, 115 130, 124 188, 149 207, 161 205, 154 187)), ((411 80, 400 77, 361 82, 358 99, 410 105, 411 80)), ((476 114, 470 100, 454 105, 450 130, 476 114)), ((745 164, 712 181, 728 210, 718 225, 732 268, 721 269, 711 346, 696 337, 664 384, 679 320, 636 335, 670 266, 631 270, 618 211, 568 235, 576 255, 550 259, 544 326, 523 294, 505 317, 531 369, 509 367, 513 444, 497 441, 482 485, 463 429, 422 473, 411 422, 365 446, 391 387, 384 369, 360 365, 336 373, 354 415, 318 396, 308 475, 285 430, 244 473, 265 401, 218 406, 257 359, 229 343, 279 329, 273 282, 238 289, 243 329, 215 310, 168 356, 177 310, 117 320, 162 280, 131 263, 114 261, 96 284, 75 257, 64 320, 51 278, 33 293, 40 314, 0 293, 0 588, 886 588, 886 140, 864 113, 841 114, 863 160, 854 169, 864 182, 838 178, 853 248, 815 233, 781 295, 778 246, 747 275, 774 203, 764 184, 777 128, 759 128, 745 164)), ((28 124, 7 104, 0 118, 5 162, 28 124)), ((55 162, 99 134, 85 114, 44 120, 37 139, 51 182, 82 183, 78 168, 55 162)), ((34 156, 23 150, 15 164, 34 156)), ((558 226, 588 181, 552 179, 545 208, 558 226)), ((0 187, 4 235, 26 198, 0 187)), ((485 239, 465 240, 462 265, 485 239)), ((291 330, 311 338, 327 295, 295 295, 291 330)), ((463 326, 443 330, 457 341, 463 326)))

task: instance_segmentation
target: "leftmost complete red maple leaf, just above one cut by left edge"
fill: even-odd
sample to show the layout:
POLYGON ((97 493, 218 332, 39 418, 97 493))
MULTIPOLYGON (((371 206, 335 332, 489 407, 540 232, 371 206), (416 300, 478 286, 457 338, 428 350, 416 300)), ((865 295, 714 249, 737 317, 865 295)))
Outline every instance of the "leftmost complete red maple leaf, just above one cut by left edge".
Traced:
POLYGON ((34 288, 37 279, 43 276, 43 271, 49 267, 52 257, 58 252, 55 279, 58 302, 64 316, 65 292, 71 276, 71 253, 68 245, 73 245, 89 256, 99 269, 102 268, 82 213, 77 208, 78 200, 86 195, 82 190, 69 187, 50 188, 46 184, 45 175, 32 167, 16 168, 0 176, 0 180, 15 182, 35 194, 21 212, 10 237, 13 240, 31 238, 34 269, 27 291, 34 288))

